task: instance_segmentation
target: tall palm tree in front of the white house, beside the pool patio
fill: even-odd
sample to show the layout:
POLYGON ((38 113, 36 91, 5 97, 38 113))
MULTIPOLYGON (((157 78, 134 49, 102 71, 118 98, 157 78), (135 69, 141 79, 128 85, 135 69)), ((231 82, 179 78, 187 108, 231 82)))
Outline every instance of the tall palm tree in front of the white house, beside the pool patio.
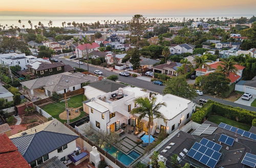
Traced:
POLYGON ((139 97, 135 99, 135 103, 138 105, 137 108, 134 108, 130 113, 132 115, 138 114, 138 123, 143 118, 148 118, 147 122, 147 133, 148 133, 148 145, 150 145, 150 127, 154 125, 154 119, 163 119, 165 122, 164 115, 159 111, 162 106, 166 106, 165 102, 159 102, 156 104, 156 97, 152 97, 151 99, 147 97, 139 97))

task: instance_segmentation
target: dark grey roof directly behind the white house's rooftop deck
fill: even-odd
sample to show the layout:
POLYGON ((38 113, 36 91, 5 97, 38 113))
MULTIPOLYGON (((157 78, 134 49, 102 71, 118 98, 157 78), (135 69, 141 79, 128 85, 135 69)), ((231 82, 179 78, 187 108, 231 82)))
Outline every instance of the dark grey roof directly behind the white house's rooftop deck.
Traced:
POLYGON ((125 85, 122 85, 120 83, 117 83, 117 82, 109 80, 109 79, 93 82, 89 86, 96 88, 98 90, 101 90, 103 92, 106 92, 106 93, 114 92, 114 91, 118 90, 119 88, 126 87, 125 85))

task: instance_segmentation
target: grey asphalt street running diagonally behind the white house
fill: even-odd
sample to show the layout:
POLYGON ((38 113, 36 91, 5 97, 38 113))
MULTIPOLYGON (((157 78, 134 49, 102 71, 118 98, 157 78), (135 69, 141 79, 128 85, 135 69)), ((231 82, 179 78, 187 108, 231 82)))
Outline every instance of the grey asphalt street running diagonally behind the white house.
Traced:
MULTIPOLYGON (((66 60, 66 59, 62 59, 62 58, 59 58, 59 57, 61 57, 61 56, 60 55, 55 56, 55 58, 57 60, 61 60, 63 63, 65 63, 67 65, 70 65, 71 67, 79 67, 79 65, 76 64, 75 62, 72 62, 72 61, 69 61, 69 60, 66 60)), ((87 70, 87 65, 86 64, 80 65, 80 68, 87 70)), ((104 77, 108 77, 110 75, 118 75, 115 72, 105 70, 105 69, 102 69, 102 68, 95 68, 95 67, 89 65, 89 72, 94 73, 94 70, 96 70, 96 69, 100 70, 103 73, 102 76, 104 76, 104 77)), ((137 79, 137 78, 132 77, 132 76, 129 76, 129 77, 118 76, 118 77, 119 77, 119 79, 118 79, 119 81, 124 82, 124 83, 128 83, 132 86, 147 89, 147 90, 150 90, 150 91, 153 91, 153 92, 163 93, 164 86, 154 85, 152 82, 137 79)), ((200 98, 214 100, 214 101, 217 101, 217 102, 220 102, 220 103, 223 103, 223 104, 226 104, 226 105, 230 105, 230 106, 233 106, 233 107, 241 107, 241 108, 245 108, 245 109, 248 109, 248 110, 251 110, 251 111, 256 111, 256 107, 247 106, 247 105, 243 105, 243 104, 239 104, 239 103, 234 103, 234 102, 231 102, 231 101, 227 101, 227 100, 223 100, 223 99, 219 99, 219 98, 215 98, 215 97, 210 97, 210 96, 206 96, 206 95, 198 96, 195 99, 193 99, 193 101, 197 103, 200 98)))

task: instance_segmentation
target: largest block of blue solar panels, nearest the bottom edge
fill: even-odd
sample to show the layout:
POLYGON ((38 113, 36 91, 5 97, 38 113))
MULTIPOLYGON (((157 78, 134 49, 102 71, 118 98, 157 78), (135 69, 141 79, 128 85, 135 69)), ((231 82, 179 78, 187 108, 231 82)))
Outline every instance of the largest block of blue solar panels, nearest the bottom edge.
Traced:
POLYGON ((221 153, 212 150, 202 144, 195 143, 193 147, 187 152, 187 155, 208 167, 215 167, 221 157, 221 153))

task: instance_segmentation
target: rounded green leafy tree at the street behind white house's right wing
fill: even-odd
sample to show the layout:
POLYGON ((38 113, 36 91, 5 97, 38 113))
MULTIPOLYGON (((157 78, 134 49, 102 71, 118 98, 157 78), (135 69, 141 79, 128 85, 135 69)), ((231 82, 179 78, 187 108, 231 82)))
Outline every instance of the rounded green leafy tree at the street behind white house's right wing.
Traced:
POLYGON ((176 96, 192 99, 197 96, 195 90, 188 85, 184 76, 176 76, 167 80, 164 94, 173 94, 176 96))

